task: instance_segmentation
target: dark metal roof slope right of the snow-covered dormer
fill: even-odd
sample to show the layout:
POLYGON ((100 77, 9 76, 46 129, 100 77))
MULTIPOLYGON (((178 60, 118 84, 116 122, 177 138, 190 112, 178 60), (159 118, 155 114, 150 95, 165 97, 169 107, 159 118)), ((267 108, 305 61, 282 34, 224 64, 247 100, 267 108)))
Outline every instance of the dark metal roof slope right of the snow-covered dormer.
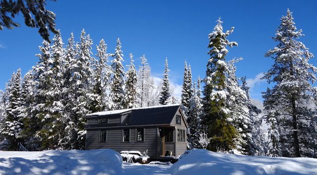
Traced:
POLYGON ((135 109, 127 115, 122 125, 170 124, 179 106, 135 109))

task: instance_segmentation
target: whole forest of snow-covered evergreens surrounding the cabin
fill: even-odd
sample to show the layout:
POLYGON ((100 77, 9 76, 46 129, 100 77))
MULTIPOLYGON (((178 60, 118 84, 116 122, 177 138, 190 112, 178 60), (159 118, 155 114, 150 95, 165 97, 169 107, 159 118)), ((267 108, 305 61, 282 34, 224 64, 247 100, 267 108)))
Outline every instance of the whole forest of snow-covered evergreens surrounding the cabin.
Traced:
POLYGON ((172 95, 167 58, 158 84, 146 56, 135 65, 132 53, 124 57, 119 38, 114 51, 102 39, 93 53, 85 30, 79 41, 71 33, 65 43, 57 31, 52 44, 39 46, 38 63, 24 76, 18 69, 0 91, 0 149, 17 150, 21 143, 29 151, 84 150, 86 114, 179 103, 189 124, 188 149, 317 158, 317 68, 299 41, 303 34, 292 12, 281 17, 276 45, 265 53, 273 65, 262 78, 268 83, 264 110, 252 103, 246 77, 236 76, 235 64, 243 58, 226 57, 237 49, 227 39, 233 31, 216 21, 204 77, 193 78, 195 70, 184 61, 180 99, 172 95))

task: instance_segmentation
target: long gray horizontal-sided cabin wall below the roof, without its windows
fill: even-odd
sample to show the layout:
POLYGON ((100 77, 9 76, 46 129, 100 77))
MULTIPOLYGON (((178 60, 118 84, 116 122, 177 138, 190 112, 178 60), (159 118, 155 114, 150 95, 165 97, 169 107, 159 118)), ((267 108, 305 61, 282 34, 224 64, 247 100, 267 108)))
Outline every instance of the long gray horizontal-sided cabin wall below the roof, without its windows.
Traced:
POLYGON ((101 129, 87 129, 86 149, 109 148, 115 151, 140 151, 148 150, 151 158, 156 158, 157 148, 157 128, 146 127, 144 132, 144 142, 135 141, 135 129, 130 129, 130 142, 122 142, 122 129, 103 129, 106 131, 106 142, 99 142, 99 132, 101 129))

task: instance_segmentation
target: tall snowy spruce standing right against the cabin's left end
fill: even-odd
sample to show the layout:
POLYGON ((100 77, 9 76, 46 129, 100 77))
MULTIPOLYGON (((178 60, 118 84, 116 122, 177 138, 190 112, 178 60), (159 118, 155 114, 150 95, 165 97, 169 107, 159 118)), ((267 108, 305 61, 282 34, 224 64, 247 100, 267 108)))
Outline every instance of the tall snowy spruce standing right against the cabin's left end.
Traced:
POLYGON ((66 127, 68 131, 76 132, 76 142, 72 144, 75 149, 85 148, 86 125, 85 115, 89 113, 87 94, 91 93, 91 84, 93 77, 92 63, 95 59, 92 57, 91 45, 93 41, 90 36, 86 36, 85 30, 82 30, 80 43, 75 45, 75 60, 71 65, 72 77, 70 79, 70 91, 72 93, 73 106, 70 111, 71 123, 66 127))

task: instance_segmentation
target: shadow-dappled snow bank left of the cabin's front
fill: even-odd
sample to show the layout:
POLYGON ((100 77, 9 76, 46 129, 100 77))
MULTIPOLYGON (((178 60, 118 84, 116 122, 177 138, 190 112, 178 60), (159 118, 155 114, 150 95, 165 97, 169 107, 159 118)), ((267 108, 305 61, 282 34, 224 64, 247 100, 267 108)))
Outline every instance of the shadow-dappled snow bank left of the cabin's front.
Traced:
POLYGON ((0 175, 121 175, 122 157, 111 149, 0 151, 0 175))

